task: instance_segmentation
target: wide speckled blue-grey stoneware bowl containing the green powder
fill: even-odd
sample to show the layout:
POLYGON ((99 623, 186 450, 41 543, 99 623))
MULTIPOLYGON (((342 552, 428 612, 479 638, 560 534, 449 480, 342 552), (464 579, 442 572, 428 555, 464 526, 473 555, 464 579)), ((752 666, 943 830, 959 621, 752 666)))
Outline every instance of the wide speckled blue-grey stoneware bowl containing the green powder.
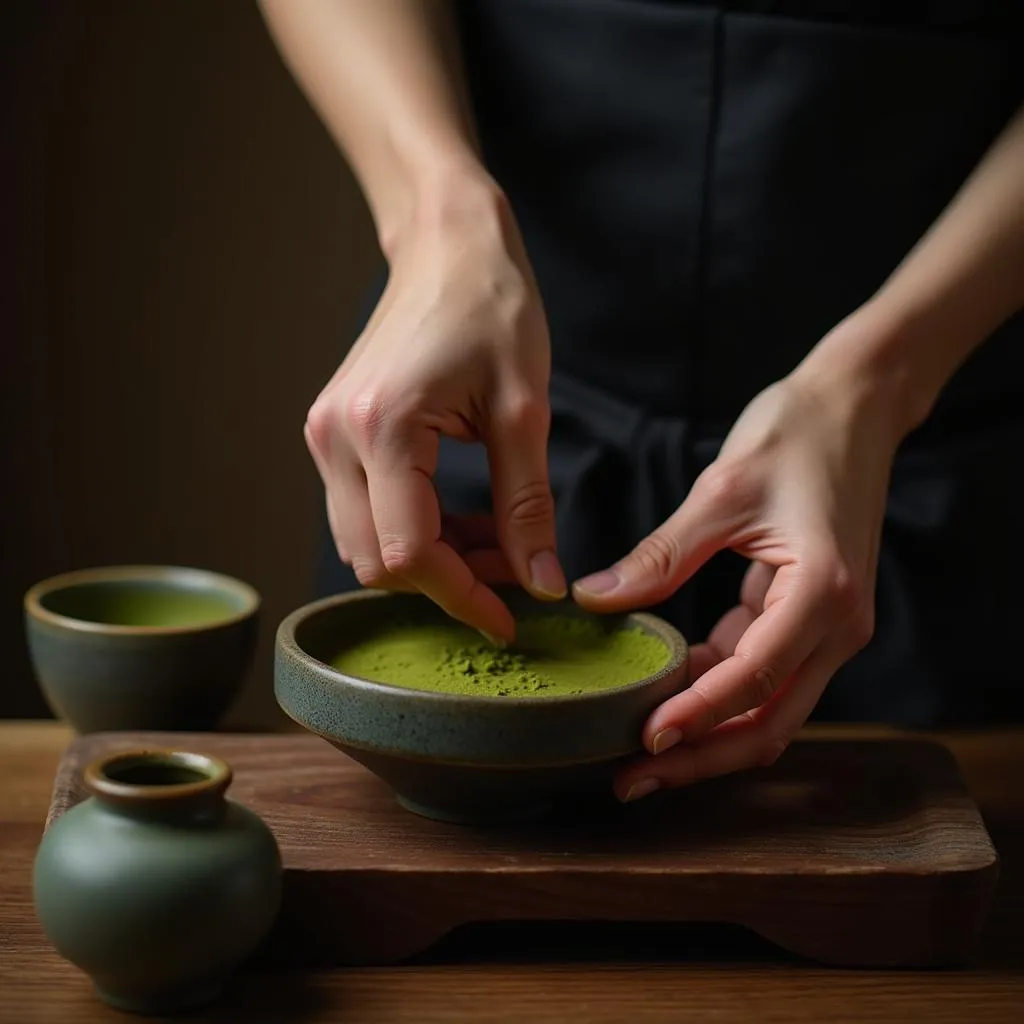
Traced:
MULTIPOLYGON (((514 612, 586 615, 575 605, 510 596, 514 612)), ((436 614, 424 597, 361 591, 308 604, 278 630, 274 688, 285 712, 360 762, 407 809, 442 821, 543 816, 569 795, 610 797, 614 764, 641 750, 651 711, 687 682, 689 652, 654 615, 623 616, 669 651, 656 674, 613 689, 553 697, 439 693, 372 682, 328 664, 366 630, 436 614)))

